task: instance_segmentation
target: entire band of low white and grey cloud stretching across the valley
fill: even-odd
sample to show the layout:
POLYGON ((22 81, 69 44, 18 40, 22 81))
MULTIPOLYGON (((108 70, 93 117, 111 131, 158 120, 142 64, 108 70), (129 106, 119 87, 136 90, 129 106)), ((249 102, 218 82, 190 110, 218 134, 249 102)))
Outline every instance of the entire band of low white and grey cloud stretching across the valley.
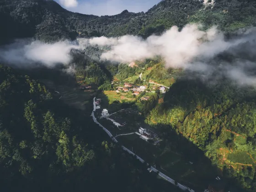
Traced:
MULTIPOLYGON (((252 73, 256 69, 255 29, 226 40, 216 27, 208 31, 202 31, 200 27, 187 25, 181 31, 171 27, 162 35, 152 35, 147 39, 126 35, 58 43, 19 40, 0 48, 0 61, 17 67, 35 67, 35 64, 54 67, 56 64, 70 64, 71 49, 98 46, 103 51, 107 46, 110 50, 103 51, 102 60, 130 63, 160 55, 166 67, 182 68, 204 79, 224 76, 240 85, 256 85, 256 75, 252 73), (225 59, 220 55, 224 55, 225 59)), ((72 66, 66 72, 74 73, 74 69, 75 66, 72 66)))

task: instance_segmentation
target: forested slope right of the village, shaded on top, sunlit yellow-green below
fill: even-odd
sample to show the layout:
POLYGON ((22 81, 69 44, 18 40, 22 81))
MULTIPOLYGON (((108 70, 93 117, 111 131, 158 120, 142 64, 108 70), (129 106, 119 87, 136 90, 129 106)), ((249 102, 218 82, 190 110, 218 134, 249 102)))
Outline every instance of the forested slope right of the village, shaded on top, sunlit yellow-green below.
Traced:
POLYGON ((255 94, 253 88, 239 89, 229 82, 206 86, 199 80, 179 80, 166 93, 165 102, 150 111, 147 122, 159 129, 171 126, 203 150, 213 164, 227 170, 226 176, 253 191, 255 94))

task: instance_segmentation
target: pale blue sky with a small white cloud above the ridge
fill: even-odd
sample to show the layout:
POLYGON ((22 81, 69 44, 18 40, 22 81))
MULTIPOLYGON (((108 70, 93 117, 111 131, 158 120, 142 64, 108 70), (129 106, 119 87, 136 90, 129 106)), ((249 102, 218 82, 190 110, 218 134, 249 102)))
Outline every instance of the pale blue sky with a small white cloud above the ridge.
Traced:
POLYGON ((129 12, 148 11, 161 0, 55 0, 69 11, 87 15, 117 15, 124 10, 129 12))

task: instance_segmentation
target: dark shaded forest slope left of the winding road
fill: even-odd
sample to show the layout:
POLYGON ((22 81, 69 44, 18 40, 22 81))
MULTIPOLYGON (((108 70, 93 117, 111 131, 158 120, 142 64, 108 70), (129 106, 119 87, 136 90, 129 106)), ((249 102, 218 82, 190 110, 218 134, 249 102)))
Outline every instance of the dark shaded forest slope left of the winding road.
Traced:
POLYGON ((146 168, 91 117, 0 65, 1 191, 179 192, 146 168))

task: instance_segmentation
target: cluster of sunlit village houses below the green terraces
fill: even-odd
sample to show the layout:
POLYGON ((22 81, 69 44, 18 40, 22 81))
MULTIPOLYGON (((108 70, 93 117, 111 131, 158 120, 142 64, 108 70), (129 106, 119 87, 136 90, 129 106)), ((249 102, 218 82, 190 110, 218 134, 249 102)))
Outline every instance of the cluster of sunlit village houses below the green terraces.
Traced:
MULTIPOLYGON (((147 89, 147 85, 141 86, 134 86, 131 83, 124 83, 123 87, 117 87, 116 92, 119 93, 120 91, 128 92, 130 90, 133 91, 133 95, 139 95, 140 92, 145 91, 147 89)), ((153 87, 153 90, 159 89, 160 91, 165 91, 165 87, 153 87)), ((144 99, 148 100, 148 99, 144 99)))

